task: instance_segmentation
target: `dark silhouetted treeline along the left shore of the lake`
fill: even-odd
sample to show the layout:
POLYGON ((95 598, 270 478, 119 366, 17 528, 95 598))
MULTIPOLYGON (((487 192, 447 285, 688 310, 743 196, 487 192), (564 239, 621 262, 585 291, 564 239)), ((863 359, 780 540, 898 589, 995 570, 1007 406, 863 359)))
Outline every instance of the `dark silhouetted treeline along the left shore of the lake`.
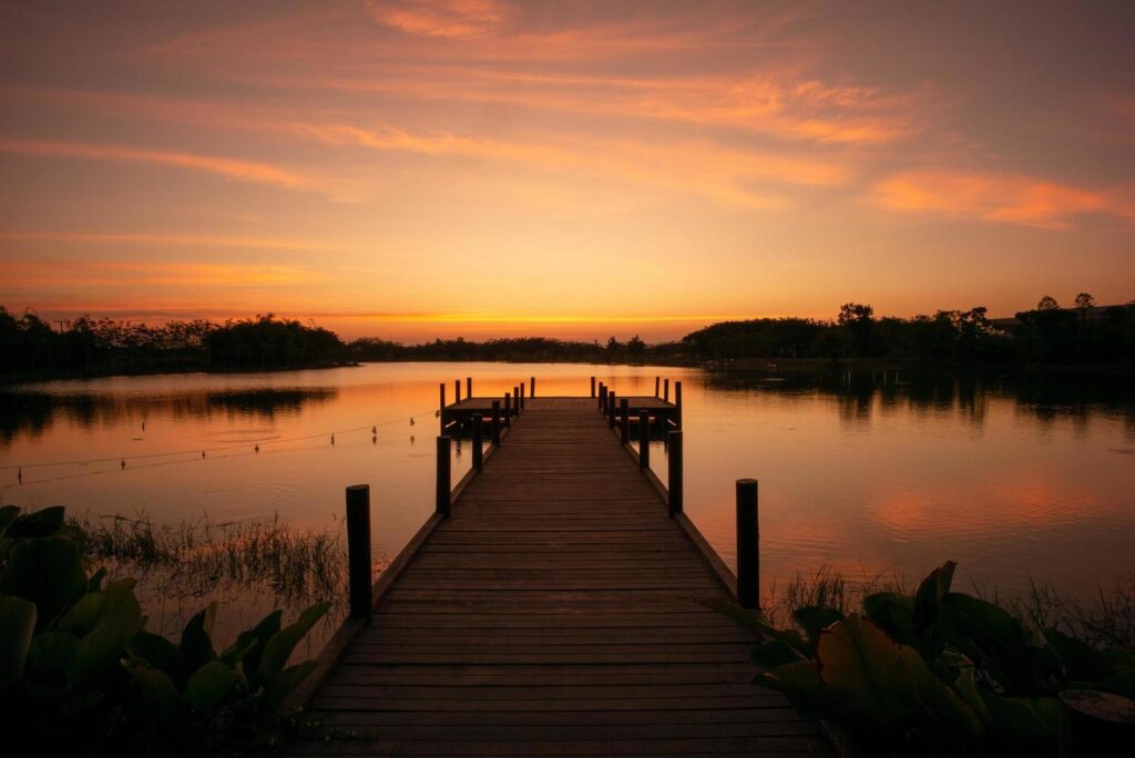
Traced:
POLYGON ((17 378, 334 365, 350 360, 331 331, 278 319, 146 326, 81 317, 58 329, 0 306, 0 376, 17 378))

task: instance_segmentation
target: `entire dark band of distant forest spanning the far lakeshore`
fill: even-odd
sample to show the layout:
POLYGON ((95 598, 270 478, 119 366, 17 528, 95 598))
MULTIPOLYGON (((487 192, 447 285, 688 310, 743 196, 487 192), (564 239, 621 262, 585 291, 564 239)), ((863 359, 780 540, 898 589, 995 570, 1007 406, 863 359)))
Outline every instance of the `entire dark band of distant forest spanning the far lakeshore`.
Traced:
POLYGON ((437 339, 403 345, 379 338, 343 342, 335 332, 272 314, 215 323, 151 327, 82 317, 59 329, 34 311, 0 306, 0 377, 7 379, 161 371, 258 370, 356 361, 580 361, 701 363, 747 360, 880 360, 918 364, 1135 364, 1135 301, 1101 308, 1084 293, 1074 308, 1052 297, 1012 319, 986 309, 876 318, 847 303, 832 321, 723 321, 676 342, 572 342, 544 337, 437 339))

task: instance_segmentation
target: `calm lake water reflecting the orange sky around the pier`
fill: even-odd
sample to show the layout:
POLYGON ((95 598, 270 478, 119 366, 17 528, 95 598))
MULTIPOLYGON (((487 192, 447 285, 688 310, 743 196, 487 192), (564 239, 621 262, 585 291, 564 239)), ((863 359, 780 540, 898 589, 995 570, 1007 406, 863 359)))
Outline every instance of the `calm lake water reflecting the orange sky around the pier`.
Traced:
MULTIPOLYGON (((1085 597, 1135 572, 1135 404, 1074 379, 387 363, 48 382, 0 395, 0 500, 338 530, 343 488, 367 482, 376 555, 389 558, 432 509, 440 380, 451 399, 466 376, 476 395, 529 376, 539 395, 580 395, 592 374, 623 395, 653 394, 658 373, 683 382, 687 511, 729 562, 733 481, 760 480, 766 591, 822 565, 914 580, 948 558, 962 581, 1009 593, 1032 576, 1085 597)), ((459 444, 455 479, 469 458, 459 444)), ((159 595, 155 618, 184 615, 159 595)), ((239 616, 274 603, 226 599, 239 616)))

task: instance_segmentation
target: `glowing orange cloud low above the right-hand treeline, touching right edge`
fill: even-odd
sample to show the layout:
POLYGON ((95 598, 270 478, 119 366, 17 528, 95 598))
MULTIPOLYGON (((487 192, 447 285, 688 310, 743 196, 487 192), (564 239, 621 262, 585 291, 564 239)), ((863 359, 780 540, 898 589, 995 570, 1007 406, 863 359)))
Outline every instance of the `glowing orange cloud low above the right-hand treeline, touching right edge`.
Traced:
POLYGON ((1034 177, 952 169, 900 171, 875 186, 875 202, 924 211, 1067 229, 1071 217, 1110 213, 1135 218, 1135 205, 1117 193, 1085 189, 1034 177))

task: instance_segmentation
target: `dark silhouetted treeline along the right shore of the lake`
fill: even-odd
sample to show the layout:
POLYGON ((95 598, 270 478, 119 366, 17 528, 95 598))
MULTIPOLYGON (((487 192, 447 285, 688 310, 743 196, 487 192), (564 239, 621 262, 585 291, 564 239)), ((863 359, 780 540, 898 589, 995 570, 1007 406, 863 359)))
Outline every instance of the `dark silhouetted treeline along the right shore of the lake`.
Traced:
POLYGON ((682 338, 700 360, 885 359, 906 363, 1132 363, 1135 302, 1096 306, 1088 294, 1063 309, 1045 296, 1014 319, 986 309, 938 311, 910 319, 876 318, 871 305, 847 303, 834 321, 724 321, 682 338))

